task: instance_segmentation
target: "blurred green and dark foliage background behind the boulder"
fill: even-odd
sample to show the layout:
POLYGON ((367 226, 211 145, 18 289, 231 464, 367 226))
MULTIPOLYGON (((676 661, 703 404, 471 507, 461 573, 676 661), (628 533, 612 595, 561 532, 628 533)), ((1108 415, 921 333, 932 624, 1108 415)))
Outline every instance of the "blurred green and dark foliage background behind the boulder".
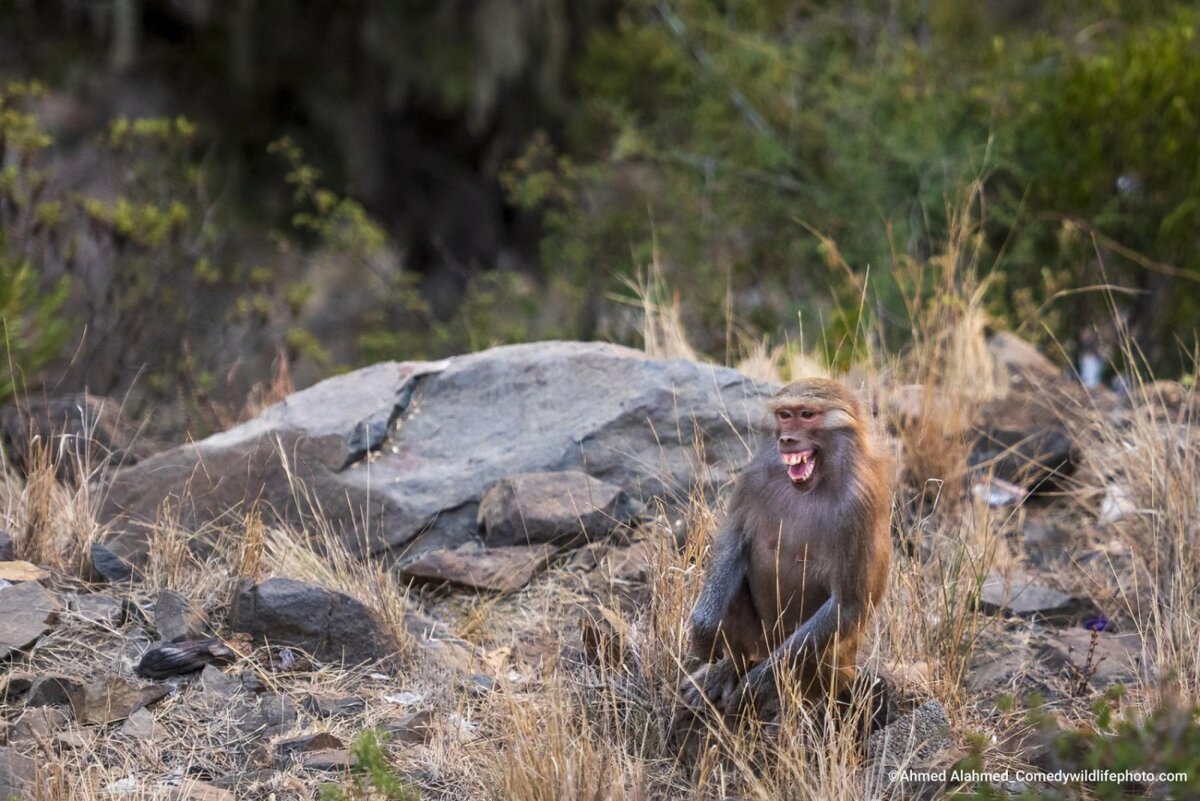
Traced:
POLYGON ((863 324, 911 336, 896 275, 942 252, 976 181, 991 325, 1064 363, 1127 325, 1178 374, 1200 312, 1198 17, 0 2, 19 82, 0 96, 0 393, 132 387, 211 428, 200 405, 272 369, 635 342, 638 283, 671 288, 712 357, 769 337, 845 366, 863 324))

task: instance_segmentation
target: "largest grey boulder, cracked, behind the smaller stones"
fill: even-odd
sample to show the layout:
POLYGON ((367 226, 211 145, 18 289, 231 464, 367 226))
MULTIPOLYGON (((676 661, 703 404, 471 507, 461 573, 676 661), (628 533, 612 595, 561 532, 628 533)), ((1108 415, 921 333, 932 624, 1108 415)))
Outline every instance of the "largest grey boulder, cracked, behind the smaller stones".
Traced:
POLYGON ((774 389, 602 343, 376 365, 118 471, 102 518, 120 534, 106 558, 138 564, 138 524, 164 512, 199 528, 256 504, 292 520, 319 505, 359 532, 356 548, 413 558, 473 538, 484 490, 529 472, 578 470, 634 500, 682 500, 745 463, 774 389))

